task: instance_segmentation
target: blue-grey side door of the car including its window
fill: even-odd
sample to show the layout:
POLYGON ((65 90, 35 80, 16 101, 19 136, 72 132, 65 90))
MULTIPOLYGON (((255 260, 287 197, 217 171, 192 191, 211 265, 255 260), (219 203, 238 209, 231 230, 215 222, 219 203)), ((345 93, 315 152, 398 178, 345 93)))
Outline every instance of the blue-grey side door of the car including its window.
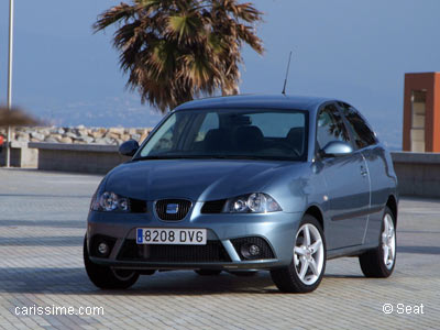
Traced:
MULTIPOLYGON (((351 144, 351 135, 336 105, 324 106, 317 118, 317 150, 329 142, 351 144)), ((327 184, 326 239, 329 250, 363 243, 370 209, 370 182, 361 152, 319 157, 327 184)), ((326 198, 326 197, 324 197, 326 198)))

